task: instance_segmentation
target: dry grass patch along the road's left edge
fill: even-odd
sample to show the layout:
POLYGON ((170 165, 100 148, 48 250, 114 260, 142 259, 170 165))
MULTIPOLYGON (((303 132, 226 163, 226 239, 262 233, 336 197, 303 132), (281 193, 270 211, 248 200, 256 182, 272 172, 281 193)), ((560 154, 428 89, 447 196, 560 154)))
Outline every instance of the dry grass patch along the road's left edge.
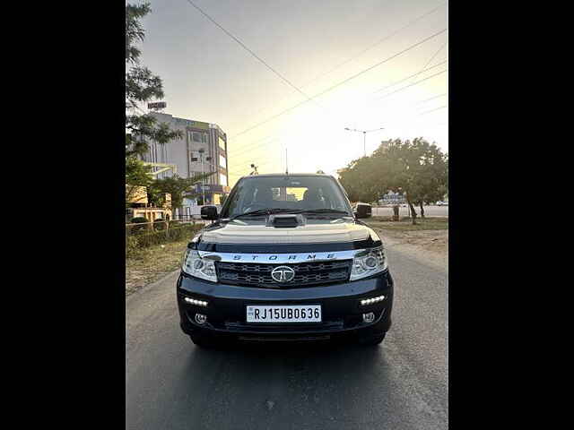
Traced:
POLYGON ((126 295, 175 271, 191 237, 139 249, 126 258, 126 295))

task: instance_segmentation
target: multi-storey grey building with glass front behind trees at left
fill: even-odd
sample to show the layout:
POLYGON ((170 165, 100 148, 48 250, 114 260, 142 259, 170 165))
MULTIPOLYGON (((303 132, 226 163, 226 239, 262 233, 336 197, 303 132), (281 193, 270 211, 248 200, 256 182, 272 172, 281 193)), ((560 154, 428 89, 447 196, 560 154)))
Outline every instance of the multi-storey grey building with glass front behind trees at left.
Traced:
MULTIPOLYGON (((176 173, 181 177, 215 172, 204 180, 204 187, 197 187, 196 192, 205 193, 205 204, 219 204, 222 195, 230 192, 227 135, 216 124, 178 118, 161 112, 152 112, 151 115, 156 118, 158 124, 164 123, 171 130, 183 132, 183 137, 165 145, 150 142, 149 150, 142 157, 143 161, 174 164, 177 167, 176 173)), ((172 175, 172 171, 166 171, 158 174, 158 177, 172 175)), ((196 203, 196 199, 184 199, 184 215, 191 214, 190 206, 196 203)))

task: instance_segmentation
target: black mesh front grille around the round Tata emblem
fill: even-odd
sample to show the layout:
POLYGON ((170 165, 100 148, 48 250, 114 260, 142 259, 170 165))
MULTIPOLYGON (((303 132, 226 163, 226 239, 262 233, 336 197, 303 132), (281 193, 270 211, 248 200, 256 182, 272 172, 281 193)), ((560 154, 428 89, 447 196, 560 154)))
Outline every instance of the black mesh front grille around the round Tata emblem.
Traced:
POLYGON ((352 260, 336 262, 300 262, 298 264, 259 264, 257 262, 215 262, 217 278, 222 284, 265 288, 297 288, 349 280, 352 260), (295 271, 290 282, 276 282, 271 271, 289 266, 295 271))

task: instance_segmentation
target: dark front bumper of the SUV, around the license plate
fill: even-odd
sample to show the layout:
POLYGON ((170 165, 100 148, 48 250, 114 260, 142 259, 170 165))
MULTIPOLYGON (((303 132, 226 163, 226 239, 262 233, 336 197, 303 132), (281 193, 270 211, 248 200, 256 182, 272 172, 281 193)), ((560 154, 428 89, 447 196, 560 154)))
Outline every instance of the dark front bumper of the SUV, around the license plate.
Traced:
POLYGON ((252 288, 199 280, 181 273, 177 283, 181 330, 187 334, 229 337, 235 340, 326 340, 349 336, 370 337, 391 326, 394 282, 389 271, 365 280, 290 288, 252 288), (361 305, 361 299, 385 296, 381 302, 361 305), (192 305, 185 297, 207 301, 192 305), (321 305, 321 323, 247 323, 247 305, 321 305), (363 323, 362 314, 375 320, 363 323), (196 323, 196 314, 207 321, 196 323))

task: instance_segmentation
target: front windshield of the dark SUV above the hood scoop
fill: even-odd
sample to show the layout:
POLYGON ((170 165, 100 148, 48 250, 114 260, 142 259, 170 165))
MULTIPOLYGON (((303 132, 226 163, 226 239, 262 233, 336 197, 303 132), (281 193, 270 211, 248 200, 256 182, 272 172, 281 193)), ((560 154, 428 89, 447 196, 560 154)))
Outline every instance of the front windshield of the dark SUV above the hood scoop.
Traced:
POLYGON ((249 176, 230 194, 222 218, 258 210, 333 210, 352 216, 343 191, 328 176, 249 176))

